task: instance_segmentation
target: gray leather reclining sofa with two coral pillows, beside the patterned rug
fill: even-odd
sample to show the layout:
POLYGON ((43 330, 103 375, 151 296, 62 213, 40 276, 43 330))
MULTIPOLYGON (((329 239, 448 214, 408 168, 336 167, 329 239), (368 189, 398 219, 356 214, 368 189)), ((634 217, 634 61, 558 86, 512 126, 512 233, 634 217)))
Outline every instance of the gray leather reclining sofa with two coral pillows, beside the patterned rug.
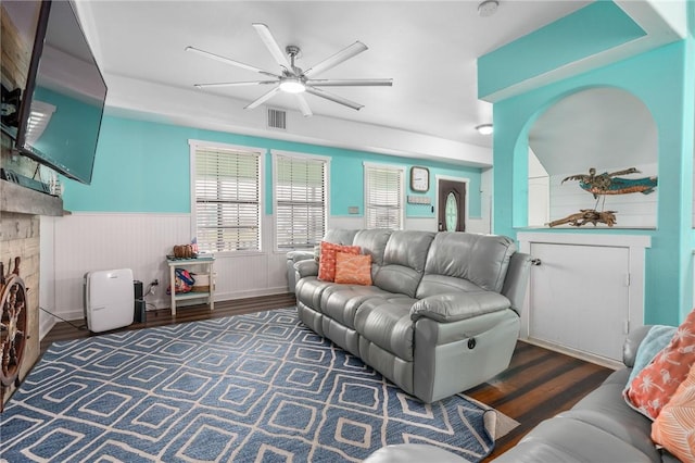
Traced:
POLYGON ((362 229, 325 240, 369 253, 374 285, 323 281, 314 260, 295 262, 298 313, 311 329, 425 402, 507 368, 530 264, 509 238, 362 229))

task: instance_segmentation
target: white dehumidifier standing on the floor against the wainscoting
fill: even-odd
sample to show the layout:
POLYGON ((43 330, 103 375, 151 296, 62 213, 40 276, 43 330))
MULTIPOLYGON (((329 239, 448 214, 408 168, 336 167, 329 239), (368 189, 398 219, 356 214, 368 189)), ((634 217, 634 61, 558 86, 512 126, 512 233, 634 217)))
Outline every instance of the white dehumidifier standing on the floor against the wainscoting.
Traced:
POLYGON ((86 273, 84 293, 90 331, 106 331, 132 323, 135 289, 130 268, 86 273))

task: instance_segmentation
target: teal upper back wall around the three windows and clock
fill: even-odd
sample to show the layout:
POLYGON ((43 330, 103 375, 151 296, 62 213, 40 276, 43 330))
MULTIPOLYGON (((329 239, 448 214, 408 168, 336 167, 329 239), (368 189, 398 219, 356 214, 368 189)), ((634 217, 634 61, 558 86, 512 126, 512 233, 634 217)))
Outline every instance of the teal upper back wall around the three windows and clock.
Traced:
MULTIPOLYGON (((348 208, 364 207, 363 163, 406 167, 407 195, 409 167, 430 170, 430 197, 435 202, 437 175, 470 179, 469 216, 480 217, 480 168, 428 162, 365 151, 298 143, 192 127, 104 116, 101 126, 94 172, 90 186, 66 180, 63 200, 70 211, 91 212, 190 212, 189 139, 248 146, 266 150, 265 213, 273 213, 273 162, 269 150, 283 150, 330 158, 330 214, 346 216, 348 208)), ((355 215, 352 215, 355 216, 355 215)), ((430 207, 407 204, 408 217, 434 217, 430 207)))

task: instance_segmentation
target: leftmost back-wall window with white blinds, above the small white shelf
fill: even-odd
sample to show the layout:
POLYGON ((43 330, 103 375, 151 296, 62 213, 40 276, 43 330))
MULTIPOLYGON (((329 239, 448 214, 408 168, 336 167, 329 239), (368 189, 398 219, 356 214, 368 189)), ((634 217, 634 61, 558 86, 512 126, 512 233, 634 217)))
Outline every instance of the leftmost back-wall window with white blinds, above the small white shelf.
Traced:
POLYGON ((261 250, 261 152, 191 142, 191 155, 199 249, 261 250))

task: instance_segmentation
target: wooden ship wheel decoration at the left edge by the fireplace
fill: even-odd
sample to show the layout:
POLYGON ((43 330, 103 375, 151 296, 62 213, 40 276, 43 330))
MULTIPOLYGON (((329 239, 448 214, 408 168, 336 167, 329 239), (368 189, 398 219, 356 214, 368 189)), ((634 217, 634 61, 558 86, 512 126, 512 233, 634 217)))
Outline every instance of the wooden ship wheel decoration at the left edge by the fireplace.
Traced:
POLYGON ((20 258, 14 270, 4 275, 0 262, 0 391, 18 380, 26 343, 26 287, 20 277, 20 258))

